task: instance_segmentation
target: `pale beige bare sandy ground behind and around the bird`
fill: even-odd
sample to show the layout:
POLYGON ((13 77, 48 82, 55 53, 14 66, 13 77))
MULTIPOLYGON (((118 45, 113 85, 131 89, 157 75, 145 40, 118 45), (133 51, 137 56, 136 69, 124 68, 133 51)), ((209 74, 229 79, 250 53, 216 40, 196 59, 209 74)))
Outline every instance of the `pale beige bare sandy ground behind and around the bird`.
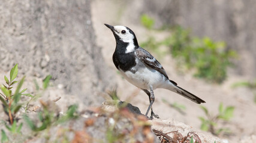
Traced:
MULTIPOLYGON (((140 4, 132 6, 134 6, 134 11, 141 7, 140 4)), ((139 107, 142 113, 146 113, 146 109, 149 105, 147 95, 122 78, 112 62, 112 54, 115 51, 115 38, 112 32, 104 26, 104 23, 128 26, 135 32, 138 43, 143 42, 152 32, 148 32, 140 25, 138 17, 131 18, 128 8, 124 8, 122 11, 121 8, 122 2, 118 1, 95 0, 92 2, 92 20, 97 35, 97 43, 102 48, 107 66, 110 67, 113 73, 116 73, 116 77, 113 81, 116 81, 119 98, 123 101, 131 102, 131 104, 139 107)), ((131 13, 135 13, 134 11, 131 13)), ((161 39, 162 35, 165 35, 164 32, 155 34, 156 39, 161 39)), ((218 113, 220 102, 223 102, 224 106, 233 105, 235 107, 234 117, 231 121, 218 124, 218 128, 230 128, 233 134, 230 136, 220 136, 220 138, 228 139, 230 142, 239 142, 240 139, 246 136, 256 135, 256 104, 253 101, 253 93, 247 88, 231 88, 234 82, 246 80, 246 77, 234 75, 233 72, 231 72, 232 70, 230 70, 228 80, 222 85, 210 84, 203 80, 196 79, 192 76, 192 72, 186 74, 179 73, 176 69, 175 61, 170 55, 160 57, 154 53, 152 54, 158 58, 158 61, 167 71, 171 80, 174 80, 180 87, 191 91, 206 101, 206 104, 203 105, 209 109, 210 113, 218 113)), ((156 100, 153 104, 153 110, 161 119, 175 119, 193 128, 200 128, 201 122, 198 116, 204 116, 200 105, 165 89, 156 89, 154 92, 156 100), (185 105, 185 114, 181 114, 174 108, 164 104, 162 99, 170 103, 177 102, 178 104, 185 105)))

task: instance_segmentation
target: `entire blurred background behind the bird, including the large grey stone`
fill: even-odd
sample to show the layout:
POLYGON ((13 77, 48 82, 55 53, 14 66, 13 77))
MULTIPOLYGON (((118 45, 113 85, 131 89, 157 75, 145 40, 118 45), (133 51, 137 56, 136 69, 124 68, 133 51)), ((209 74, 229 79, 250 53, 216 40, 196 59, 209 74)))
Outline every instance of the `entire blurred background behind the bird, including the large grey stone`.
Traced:
POLYGON ((203 107, 156 89, 153 108, 164 119, 238 142, 256 135, 256 4, 254 1, 84 0, 3 1, 0 5, 0 77, 19 64, 18 77, 51 74, 44 100, 61 110, 101 105, 116 90, 146 113, 147 95, 112 62, 115 38, 104 26, 132 29, 141 47, 171 80, 206 101, 203 107))

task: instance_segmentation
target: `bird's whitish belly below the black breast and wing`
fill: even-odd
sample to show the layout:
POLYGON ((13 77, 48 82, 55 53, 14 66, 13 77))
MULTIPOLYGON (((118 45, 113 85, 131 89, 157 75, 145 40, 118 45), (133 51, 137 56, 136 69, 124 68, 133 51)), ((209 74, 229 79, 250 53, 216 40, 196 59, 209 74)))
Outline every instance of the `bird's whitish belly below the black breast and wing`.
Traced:
POLYGON ((158 71, 144 66, 141 61, 137 62, 137 66, 132 68, 135 73, 131 71, 121 71, 122 76, 124 76, 128 82, 132 83, 132 85, 141 89, 149 90, 149 85, 152 85, 153 89, 163 88, 168 79, 158 71))

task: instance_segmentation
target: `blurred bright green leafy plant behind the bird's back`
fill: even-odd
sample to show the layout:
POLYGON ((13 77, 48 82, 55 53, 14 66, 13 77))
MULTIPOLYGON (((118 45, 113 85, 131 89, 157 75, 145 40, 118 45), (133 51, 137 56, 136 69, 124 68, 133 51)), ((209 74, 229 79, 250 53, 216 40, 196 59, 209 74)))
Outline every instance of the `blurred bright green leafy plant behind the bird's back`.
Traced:
MULTIPOLYGON (((162 41, 149 36, 143 47, 158 51, 159 46, 170 47, 171 55, 179 59, 178 65, 195 69, 194 76, 210 82, 222 83, 227 78, 227 67, 232 66, 230 59, 236 52, 226 48, 225 42, 214 42, 210 38, 197 38, 189 30, 180 26, 165 28, 171 35, 162 41)), ((181 66, 179 66, 180 68, 181 66)))

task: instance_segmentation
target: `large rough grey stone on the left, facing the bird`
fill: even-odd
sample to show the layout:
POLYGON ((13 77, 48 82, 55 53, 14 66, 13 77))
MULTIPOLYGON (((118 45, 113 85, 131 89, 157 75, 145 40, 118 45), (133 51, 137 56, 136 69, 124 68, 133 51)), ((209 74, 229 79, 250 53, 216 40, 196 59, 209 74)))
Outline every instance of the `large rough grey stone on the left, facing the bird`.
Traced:
POLYGON ((1 78, 18 63, 18 76, 26 75, 31 85, 32 79, 51 74, 53 85, 62 84, 65 94, 77 97, 80 106, 100 105, 104 99, 99 92, 109 85, 112 74, 95 43, 90 3, 1 1, 1 78))

